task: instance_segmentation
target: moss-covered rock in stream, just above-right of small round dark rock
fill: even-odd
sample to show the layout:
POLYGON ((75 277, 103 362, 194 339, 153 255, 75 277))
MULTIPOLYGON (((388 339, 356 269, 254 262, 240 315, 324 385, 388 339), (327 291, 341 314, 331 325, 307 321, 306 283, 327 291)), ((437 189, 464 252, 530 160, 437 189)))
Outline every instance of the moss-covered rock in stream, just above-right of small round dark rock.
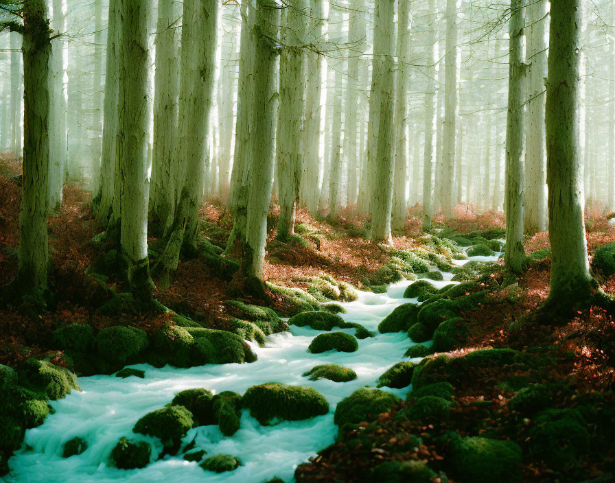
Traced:
POLYGON ((184 406, 167 406, 143 416, 132 432, 160 438, 165 447, 177 451, 181 438, 194 427, 194 418, 184 406))

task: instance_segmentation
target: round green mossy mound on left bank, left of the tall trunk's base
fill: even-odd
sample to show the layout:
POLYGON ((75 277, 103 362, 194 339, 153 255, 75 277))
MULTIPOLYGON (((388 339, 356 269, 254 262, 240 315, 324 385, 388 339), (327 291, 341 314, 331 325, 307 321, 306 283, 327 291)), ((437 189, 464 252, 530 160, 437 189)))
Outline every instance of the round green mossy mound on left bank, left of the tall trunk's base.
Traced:
POLYGON ((148 335, 137 327, 116 325, 96 335, 96 350, 110 362, 124 365, 148 347, 148 335))

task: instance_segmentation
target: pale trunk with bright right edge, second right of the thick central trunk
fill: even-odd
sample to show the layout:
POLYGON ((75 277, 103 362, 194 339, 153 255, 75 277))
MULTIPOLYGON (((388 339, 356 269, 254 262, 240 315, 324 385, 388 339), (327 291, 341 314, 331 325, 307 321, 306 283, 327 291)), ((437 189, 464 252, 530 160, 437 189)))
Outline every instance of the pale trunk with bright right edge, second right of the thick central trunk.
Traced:
MULTIPOLYGON (((310 1, 310 16, 306 32, 308 43, 316 47, 323 41, 323 0, 310 1)), ((323 89, 323 56, 308 51, 305 86, 305 127, 303 132, 304 168, 301 178, 301 202, 315 215, 320 198, 319 170, 321 164, 321 139, 323 136, 321 94, 323 89)))

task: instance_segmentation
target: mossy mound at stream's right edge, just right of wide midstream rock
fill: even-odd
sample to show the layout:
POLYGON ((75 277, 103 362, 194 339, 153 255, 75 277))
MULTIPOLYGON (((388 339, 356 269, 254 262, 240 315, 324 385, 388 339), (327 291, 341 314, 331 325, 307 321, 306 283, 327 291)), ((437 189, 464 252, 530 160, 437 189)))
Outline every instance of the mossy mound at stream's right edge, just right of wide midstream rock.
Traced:
POLYGON ((402 399, 391 392, 380 389, 361 388, 338 403, 334 422, 339 427, 358 424, 378 418, 378 414, 389 412, 402 399))

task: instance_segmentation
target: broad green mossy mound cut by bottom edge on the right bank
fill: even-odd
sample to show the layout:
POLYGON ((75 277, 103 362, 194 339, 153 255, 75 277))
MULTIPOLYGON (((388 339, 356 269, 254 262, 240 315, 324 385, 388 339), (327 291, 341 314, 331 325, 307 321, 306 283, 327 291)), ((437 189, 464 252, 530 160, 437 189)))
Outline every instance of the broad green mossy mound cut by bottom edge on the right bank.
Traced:
POLYGON ((469 437, 451 445, 450 460, 463 483, 519 482, 521 448, 511 441, 469 437))

